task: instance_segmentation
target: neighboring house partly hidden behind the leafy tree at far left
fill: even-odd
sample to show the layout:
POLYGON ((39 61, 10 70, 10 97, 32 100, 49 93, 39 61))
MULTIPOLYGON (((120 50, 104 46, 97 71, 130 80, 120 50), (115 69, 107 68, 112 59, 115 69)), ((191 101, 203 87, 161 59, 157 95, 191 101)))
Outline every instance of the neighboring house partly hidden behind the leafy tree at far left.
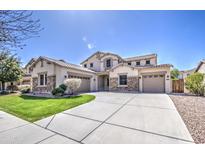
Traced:
MULTIPOLYGON (((10 85, 29 85, 31 86, 31 68, 30 66, 32 65, 32 63, 35 62, 35 58, 32 58, 24 68, 22 68, 24 74, 22 76, 22 79, 20 81, 14 81, 14 82, 6 82, 5 83, 5 90, 7 90, 7 87, 10 86, 10 85)), ((0 82, 0 91, 3 90, 3 85, 2 83, 0 82)))

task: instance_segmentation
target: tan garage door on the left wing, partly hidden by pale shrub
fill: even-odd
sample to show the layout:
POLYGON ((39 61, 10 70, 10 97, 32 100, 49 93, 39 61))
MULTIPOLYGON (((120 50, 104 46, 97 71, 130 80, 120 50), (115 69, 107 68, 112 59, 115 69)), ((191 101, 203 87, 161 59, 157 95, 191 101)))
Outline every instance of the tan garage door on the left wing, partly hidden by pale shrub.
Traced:
POLYGON ((69 76, 69 78, 81 79, 81 85, 78 88, 77 92, 89 92, 90 91, 90 78, 89 77, 71 75, 69 76))

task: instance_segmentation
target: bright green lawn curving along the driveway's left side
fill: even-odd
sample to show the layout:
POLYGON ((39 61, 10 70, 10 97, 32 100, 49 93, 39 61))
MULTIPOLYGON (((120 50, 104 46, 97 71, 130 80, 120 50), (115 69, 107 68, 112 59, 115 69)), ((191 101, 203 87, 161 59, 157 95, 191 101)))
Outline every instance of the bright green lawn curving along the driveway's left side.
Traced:
POLYGON ((25 95, 0 96, 0 110, 34 122, 95 99, 93 95, 70 98, 43 98, 25 95))

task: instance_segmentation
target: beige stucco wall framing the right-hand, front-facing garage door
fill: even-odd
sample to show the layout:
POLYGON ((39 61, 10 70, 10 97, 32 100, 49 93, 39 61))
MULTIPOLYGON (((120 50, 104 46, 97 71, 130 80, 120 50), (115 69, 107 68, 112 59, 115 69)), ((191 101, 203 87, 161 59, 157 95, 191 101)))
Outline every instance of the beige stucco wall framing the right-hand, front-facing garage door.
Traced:
POLYGON ((170 76, 170 68, 169 67, 161 67, 161 68, 144 68, 139 71, 140 81, 139 81, 139 89, 142 92, 142 74, 143 73, 157 73, 157 72, 166 72, 165 73, 165 92, 172 92, 172 84, 171 84, 171 76, 170 76))

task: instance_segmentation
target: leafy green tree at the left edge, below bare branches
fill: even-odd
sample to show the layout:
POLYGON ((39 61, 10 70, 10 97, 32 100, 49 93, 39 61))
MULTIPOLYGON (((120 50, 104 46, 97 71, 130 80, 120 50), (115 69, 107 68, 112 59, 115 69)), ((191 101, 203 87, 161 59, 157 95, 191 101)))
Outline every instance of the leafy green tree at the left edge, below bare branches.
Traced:
POLYGON ((0 82, 5 90, 5 82, 14 82, 21 79, 23 71, 20 68, 20 59, 16 54, 8 51, 0 52, 0 82))

